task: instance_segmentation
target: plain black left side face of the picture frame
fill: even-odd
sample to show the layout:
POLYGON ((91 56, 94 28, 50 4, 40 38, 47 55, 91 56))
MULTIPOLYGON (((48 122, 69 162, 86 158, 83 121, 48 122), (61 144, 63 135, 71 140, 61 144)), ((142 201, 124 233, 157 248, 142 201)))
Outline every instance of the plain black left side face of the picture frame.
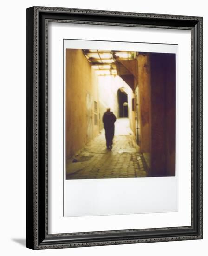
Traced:
POLYGON ((34 8, 26 9, 26 247, 34 249, 34 8))

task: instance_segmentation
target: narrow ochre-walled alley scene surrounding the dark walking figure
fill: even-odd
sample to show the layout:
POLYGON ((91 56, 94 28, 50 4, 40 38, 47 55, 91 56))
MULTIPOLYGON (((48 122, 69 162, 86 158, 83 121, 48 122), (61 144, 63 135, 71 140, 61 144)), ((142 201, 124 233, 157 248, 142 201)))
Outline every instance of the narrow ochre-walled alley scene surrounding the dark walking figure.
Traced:
POLYGON ((176 54, 73 48, 65 54, 66 179, 175 176, 176 54), (112 150, 106 111, 117 118, 112 150))

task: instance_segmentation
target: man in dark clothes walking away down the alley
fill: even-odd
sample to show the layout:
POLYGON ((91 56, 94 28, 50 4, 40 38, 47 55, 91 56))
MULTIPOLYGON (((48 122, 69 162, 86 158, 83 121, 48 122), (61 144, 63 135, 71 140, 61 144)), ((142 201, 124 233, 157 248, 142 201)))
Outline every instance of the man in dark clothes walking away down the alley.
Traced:
POLYGON ((113 112, 110 111, 110 108, 107 108, 106 110, 107 111, 103 115, 106 146, 108 149, 112 149, 115 130, 114 123, 116 121, 116 116, 113 114, 113 112))

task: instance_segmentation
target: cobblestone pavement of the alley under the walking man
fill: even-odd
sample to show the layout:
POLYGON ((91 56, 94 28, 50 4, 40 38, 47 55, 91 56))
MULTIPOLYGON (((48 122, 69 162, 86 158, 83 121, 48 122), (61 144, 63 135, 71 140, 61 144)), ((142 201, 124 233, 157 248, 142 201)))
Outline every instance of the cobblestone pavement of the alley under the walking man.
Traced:
POLYGON ((66 163, 66 179, 146 177, 147 166, 139 152, 128 118, 118 118, 112 150, 106 149, 104 130, 66 163))

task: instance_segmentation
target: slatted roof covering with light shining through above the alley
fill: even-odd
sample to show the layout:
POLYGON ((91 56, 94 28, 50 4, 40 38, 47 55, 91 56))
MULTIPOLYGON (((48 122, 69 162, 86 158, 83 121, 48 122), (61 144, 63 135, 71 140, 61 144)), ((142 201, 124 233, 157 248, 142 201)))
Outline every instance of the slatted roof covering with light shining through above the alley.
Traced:
POLYGON ((97 75, 117 75, 116 61, 136 58, 136 52, 131 51, 83 50, 83 53, 97 75))

